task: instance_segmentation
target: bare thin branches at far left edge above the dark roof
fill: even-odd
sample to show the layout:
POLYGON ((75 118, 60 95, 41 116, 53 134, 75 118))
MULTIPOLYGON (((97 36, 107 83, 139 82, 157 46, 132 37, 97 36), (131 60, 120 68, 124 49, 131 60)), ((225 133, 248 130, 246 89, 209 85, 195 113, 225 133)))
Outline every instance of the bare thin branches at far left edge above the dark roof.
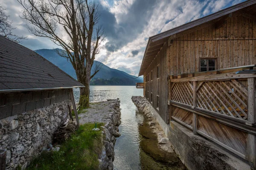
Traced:
POLYGON ((21 40, 26 39, 26 37, 19 37, 12 32, 16 28, 12 27, 13 22, 8 20, 9 15, 6 15, 4 11, 5 9, 0 5, 0 35, 8 38, 9 40, 21 43, 21 40))

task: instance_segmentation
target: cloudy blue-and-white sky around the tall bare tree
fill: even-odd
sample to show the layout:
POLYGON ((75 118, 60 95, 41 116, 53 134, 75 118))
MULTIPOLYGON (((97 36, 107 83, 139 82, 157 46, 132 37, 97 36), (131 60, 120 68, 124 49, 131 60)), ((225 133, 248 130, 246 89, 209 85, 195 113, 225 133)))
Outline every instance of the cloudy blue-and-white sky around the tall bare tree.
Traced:
MULTIPOLYGON (((107 38, 96 60, 111 68, 137 75, 148 41, 160 32, 180 26, 244 0, 98 0, 107 38)), ((29 34, 20 19, 17 0, 0 0, 13 21, 17 35, 27 36, 24 46, 32 49, 58 48, 46 38, 29 34)))

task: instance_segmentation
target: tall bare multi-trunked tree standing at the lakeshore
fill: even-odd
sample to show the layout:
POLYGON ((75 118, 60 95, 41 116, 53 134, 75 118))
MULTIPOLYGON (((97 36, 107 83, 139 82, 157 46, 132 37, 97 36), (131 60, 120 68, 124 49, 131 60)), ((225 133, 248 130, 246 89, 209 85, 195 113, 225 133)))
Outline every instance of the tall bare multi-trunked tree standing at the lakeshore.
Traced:
POLYGON ((47 37, 64 49, 61 56, 71 62, 78 81, 85 86, 80 88, 79 103, 89 106, 84 96, 90 96, 90 79, 95 75, 91 76, 91 68, 105 39, 104 28, 98 23, 99 4, 93 0, 17 1, 24 8, 21 18, 32 24, 28 26, 29 31, 47 37))

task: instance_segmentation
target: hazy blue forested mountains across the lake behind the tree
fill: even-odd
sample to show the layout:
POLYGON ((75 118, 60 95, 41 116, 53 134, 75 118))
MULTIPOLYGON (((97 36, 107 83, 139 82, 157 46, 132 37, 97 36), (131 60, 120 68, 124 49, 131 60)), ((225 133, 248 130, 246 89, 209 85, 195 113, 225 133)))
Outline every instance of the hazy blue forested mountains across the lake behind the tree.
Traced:
MULTIPOLYGON (((57 49, 40 49, 35 50, 39 55, 49 60, 58 68, 65 71, 74 79, 77 79, 76 72, 70 62, 66 58, 61 57, 57 49)), ((58 49, 59 50, 59 49, 58 49)), ((94 61, 91 74, 97 65, 100 65, 100 71, 91 79, 90 85, 135 85, 136 82, 143 82, 142 77, 132 76, 114 68, 110 68, 107 65, 99 61, 94 61)))

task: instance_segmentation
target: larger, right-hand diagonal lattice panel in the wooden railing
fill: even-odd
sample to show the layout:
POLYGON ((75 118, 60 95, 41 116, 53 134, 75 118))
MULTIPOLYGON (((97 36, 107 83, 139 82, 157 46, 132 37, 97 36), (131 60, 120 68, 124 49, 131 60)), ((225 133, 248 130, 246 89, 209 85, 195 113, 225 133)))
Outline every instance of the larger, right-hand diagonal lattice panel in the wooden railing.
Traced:
POLYGON ((203 82, 197 107, 247 120, 247 89, 236 80, 203 82))

